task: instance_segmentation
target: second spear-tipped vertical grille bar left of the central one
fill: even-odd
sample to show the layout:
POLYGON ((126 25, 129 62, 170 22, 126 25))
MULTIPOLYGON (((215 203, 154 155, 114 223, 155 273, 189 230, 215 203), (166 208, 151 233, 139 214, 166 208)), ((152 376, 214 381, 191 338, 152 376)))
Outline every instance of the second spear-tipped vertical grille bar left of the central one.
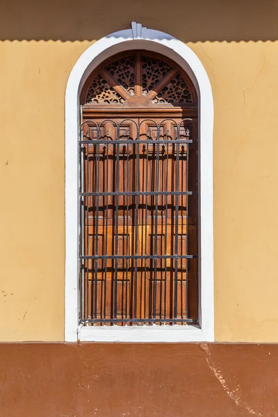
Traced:
MULTIPOLYGON (((97 129, 97 140, 99 140, 99 129, 97 129)), ((99 143, 96 145, 95 154, 95 193, 99 193, 99 143)), ((99 254, 99 195, 96 195, 95 197, 95 204, 95 256, 97 256, 99 254)), ((95 259, 94 318, 97 318, 97 267, 98 260, 95 259)))

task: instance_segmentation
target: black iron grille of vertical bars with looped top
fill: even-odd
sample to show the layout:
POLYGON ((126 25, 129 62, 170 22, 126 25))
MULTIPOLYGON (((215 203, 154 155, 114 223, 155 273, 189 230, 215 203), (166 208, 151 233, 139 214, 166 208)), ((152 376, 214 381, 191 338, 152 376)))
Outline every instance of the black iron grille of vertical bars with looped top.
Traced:
POLYGON ((87 120, 80 132, 80 323, 197 324, 195 122, 87 120))

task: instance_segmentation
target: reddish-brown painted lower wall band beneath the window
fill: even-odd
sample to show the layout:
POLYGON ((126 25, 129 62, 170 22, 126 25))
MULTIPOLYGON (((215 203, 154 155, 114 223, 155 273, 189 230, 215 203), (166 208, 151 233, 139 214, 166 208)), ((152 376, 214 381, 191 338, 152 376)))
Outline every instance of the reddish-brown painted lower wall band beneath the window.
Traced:
POLYGON ((278 414, 278 345, 0 344, 1 417, 278 414))

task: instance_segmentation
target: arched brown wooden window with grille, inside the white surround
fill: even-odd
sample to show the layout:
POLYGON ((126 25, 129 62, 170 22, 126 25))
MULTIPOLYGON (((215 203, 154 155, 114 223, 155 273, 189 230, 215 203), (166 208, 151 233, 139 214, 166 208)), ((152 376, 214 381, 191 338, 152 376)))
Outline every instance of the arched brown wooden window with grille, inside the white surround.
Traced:
POLYGON ((129 51, 90 74, 81 104, 81 324, 199 325, 193 83, 129 51))

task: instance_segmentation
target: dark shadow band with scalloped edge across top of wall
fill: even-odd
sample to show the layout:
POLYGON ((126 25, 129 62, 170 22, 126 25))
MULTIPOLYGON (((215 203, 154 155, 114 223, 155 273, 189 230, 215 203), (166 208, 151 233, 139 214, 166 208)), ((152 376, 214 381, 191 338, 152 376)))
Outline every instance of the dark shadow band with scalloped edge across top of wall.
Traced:
POLYGON ((1 0, 0 40, 95 40, 140 22, 184 42, 276 40, 275 0, 1 0))

